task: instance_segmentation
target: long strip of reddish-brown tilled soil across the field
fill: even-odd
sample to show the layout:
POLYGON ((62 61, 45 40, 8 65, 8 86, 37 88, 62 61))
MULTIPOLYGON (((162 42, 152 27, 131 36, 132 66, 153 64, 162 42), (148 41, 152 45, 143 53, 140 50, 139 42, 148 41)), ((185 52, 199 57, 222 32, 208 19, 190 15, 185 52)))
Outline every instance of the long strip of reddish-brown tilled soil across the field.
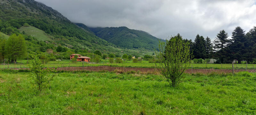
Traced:
MULTIPOLYGON (((128 71, 140 71, 140 72, 157 72, 157 69, 154 68, 130 68, 130 67, 110 67, 110 66, 86 66, 86 67, 59 67, 57 68, 57 71, 77 71, 77 70, 86 70, 86 71, 123 71, 123 72, 128 72, 128 71)), ((246 71, 246 70, 234 70, 234 72, 241 72, 241 71, 246 71)), ((247 70, 248 72, 256 72, 255 70, 247 70)), ((230 69, 188 69, 185 71, 185 73, 232 73, 232 70, 230 69)))

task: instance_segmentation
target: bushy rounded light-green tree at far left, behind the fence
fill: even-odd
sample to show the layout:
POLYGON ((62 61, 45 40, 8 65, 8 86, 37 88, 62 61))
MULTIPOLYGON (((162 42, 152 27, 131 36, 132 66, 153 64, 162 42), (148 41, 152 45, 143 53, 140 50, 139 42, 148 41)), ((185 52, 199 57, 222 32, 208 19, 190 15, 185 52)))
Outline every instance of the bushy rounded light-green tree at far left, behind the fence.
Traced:
POLYGON ((7 39, 6 49, 8 50, 8 57, 12 59, 12 61, 17 61, 17 58, 22 58, 26 56, 26 42, 24 37, 19 34, 12 34, 7 39))

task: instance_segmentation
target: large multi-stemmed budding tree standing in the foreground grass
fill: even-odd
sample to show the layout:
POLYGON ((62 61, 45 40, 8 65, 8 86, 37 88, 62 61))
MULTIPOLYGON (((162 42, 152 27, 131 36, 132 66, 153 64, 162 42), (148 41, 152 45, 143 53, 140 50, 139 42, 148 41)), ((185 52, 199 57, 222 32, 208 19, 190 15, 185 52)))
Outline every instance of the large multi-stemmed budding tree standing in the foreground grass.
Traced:
POLYGON ((159 60, 157 69, 162 73, 170 86, 176 87, 185 77, 182 73, 190 65, 189 43, 184 42, 182 37, 174 36, 165 42, 159 42, 159 52, 156 57, 159 60))

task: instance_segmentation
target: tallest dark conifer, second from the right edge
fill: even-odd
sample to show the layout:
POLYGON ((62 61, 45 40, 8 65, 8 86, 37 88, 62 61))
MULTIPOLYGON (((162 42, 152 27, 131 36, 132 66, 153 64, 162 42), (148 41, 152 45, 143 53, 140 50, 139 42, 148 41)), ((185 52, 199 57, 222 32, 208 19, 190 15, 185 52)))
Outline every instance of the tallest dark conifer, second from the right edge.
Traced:
POLYGON ((242 59, 244 59, 247 50, 245 49, 246 38, 245 31, 241 27, 236 27, 232 32, 231 36, 231 53, 233 56, 232 59, 237 59, 240 64, 242 59))

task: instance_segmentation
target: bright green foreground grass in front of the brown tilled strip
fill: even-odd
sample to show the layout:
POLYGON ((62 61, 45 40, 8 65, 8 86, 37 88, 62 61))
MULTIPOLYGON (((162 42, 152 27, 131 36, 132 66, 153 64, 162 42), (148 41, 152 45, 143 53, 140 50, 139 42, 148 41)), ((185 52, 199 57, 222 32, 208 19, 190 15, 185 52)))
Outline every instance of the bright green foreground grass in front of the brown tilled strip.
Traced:
POLYGON ((0 114, 256 114, 256 73, 185 74, 176 88, 162 75, 56 74, 39 94, 31 73, 1 70, 0 114))

